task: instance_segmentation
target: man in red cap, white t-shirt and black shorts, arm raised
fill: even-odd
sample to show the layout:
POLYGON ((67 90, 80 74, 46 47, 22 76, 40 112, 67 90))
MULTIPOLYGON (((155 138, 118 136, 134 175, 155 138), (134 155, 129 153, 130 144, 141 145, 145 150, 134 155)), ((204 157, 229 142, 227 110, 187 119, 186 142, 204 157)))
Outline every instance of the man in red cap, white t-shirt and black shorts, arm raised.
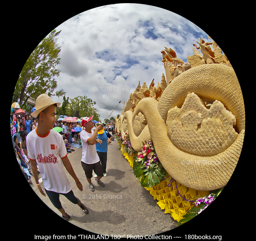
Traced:
MULTIPOLYGON (((97 133, 102 128, 103 125, 99 125, 95 131, 93 132, 93 116, 85 117, 82 120, 82 126, 84 129, 80 133, 80 139, 82 144, 82 159, 81 165, 83 167, 86 179, 89 183, 89 189, 94 191, 94 186, 91 181, 93 177, 93 171, 97 174, 95 181, 100 186, 105 186, 105 184, 100 180, 103 177, 102 166, 100 164, 99 156, 96 152, 96 139, 97 133)), ((97 140, 100 144, 102 144, 102 140, 97 140)))

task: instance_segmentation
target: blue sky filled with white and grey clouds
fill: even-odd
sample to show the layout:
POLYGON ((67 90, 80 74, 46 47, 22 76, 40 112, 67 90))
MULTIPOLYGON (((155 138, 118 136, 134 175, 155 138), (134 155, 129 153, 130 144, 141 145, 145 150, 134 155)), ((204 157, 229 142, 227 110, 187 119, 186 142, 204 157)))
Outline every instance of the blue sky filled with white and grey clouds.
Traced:
POLYGON ((69 98, 91 98, 102 121, 120 100, 110 117, 121 114, 139 81, 141 86, 149 86, 152 79, 156 86, 161 82, 164 46, 187 62, 187 55, 194 54, 193 39, 208 40, 202 29, 176 13, 131 3, 93 8, 55 29, 61 30, 56 90, 63 89, 69 98))

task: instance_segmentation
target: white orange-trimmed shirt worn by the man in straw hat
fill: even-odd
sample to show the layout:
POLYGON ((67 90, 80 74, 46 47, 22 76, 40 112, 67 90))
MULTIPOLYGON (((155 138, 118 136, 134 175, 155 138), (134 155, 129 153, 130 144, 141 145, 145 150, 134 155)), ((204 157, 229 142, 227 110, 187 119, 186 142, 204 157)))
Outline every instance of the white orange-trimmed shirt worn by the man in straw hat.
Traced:
POLYGON ((54 130, 41 136, 37 129, 27 135, 28 157, 36 161, 46 190, 68 193, 71 185, 64 172, 61 158, 67 157, 67 149, 61 135, 54 130))

